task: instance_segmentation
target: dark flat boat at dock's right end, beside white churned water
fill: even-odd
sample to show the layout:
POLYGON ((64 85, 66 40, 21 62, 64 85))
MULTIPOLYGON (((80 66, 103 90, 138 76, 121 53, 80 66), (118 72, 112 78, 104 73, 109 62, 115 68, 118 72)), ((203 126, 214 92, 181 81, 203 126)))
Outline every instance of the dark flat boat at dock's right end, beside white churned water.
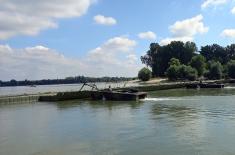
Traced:
POLYGON ((138 92, 133 90, 125 91, 94 91, 91 95, 93 100, 110 100, 110 101, 138 101, 147 97, 146 92, 138 92))

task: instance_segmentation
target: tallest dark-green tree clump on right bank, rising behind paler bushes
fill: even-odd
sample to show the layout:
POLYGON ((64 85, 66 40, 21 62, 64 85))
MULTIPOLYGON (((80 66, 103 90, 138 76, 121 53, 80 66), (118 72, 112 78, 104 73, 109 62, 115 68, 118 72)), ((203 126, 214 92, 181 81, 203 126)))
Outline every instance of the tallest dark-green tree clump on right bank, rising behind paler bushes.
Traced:
POLYGON ((171 58, 176 58, 186 65, 196 51, 197 47, 193 42, 173 41, 165 46, 152 43, 147 54, 141 57, 141 61, 152 68, 153 76, 164 76, 170 66, 169 61, 171 58))

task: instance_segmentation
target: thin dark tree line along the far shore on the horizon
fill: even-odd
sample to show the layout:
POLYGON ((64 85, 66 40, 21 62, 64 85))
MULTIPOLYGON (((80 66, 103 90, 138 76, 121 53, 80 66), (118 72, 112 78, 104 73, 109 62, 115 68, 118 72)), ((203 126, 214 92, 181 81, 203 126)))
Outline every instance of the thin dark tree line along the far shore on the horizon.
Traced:
POLYGON ((129 81, 132 78, 127 77, 67 77, 65 79, 44 79, 44 80, 23 80, 17 81, 12 79, 10 81, 0 81, 0 87, 6 86, 31 86, 31 85, 55 85, 55 84, 76 84, 76 83, 93 83, 93 82, 121 82, 129 81))

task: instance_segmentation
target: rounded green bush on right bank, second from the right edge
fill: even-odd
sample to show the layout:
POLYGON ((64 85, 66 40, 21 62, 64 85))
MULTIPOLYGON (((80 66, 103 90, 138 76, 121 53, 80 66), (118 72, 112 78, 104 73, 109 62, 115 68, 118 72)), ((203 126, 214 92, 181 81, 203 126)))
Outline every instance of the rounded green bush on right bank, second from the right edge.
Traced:
POLYGON ((208 62, 209 71, 205 74, 205 77, 211 80, 221 79, 223 76, 223 66, 218 61, 208 62))

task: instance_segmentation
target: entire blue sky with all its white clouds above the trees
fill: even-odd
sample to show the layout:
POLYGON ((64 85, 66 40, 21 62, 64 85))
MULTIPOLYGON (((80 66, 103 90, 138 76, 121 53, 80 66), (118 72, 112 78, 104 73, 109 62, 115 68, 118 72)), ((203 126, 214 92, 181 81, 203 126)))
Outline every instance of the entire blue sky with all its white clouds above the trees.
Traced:
POLYGON ((0 80, 135 76, 151 42, 235 40, 233 0, 1 3, 0 80))

